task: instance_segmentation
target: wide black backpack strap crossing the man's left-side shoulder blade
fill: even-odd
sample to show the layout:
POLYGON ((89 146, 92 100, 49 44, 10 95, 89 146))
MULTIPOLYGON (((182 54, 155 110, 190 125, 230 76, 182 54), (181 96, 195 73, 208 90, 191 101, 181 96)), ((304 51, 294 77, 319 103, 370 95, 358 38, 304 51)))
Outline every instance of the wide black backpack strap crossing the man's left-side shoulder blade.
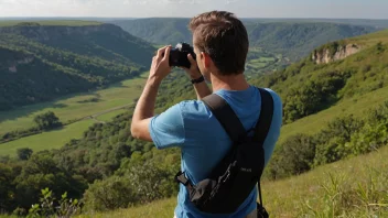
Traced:
POLYGON ((238 142, 246 135, 246 130, 241 121, 228 102, 216 94, 212 94, 202 99, 218 122, 223 126, 233 142, 238 142))

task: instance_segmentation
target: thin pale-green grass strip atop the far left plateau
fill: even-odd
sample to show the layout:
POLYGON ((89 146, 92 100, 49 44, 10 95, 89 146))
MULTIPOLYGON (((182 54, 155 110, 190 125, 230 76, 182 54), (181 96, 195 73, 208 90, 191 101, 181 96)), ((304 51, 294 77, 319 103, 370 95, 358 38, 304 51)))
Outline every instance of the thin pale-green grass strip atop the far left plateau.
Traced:
POLYGON ((97 21, 78 21, 78 20, 54 20, 54 21, 34 21, 34 20, 12 20, 12 21, 0 21, 1 26, 12 26, 23 22, 39 23, 41 25, 67 25, 67 26, 83 26, 83 25, 100 25, 101 22, 97 21))

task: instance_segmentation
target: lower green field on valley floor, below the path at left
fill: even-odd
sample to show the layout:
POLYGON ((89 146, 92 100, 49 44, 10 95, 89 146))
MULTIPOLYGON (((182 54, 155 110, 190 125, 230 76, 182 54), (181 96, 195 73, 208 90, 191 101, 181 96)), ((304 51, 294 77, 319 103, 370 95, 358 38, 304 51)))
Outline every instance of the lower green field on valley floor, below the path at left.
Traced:
POLYGON ((30 148, 34 152, 60 149, 71 139, 82 138, 84 131, 87 130, 93 123, 95 123, 94 120, 83 120, 58 130, 52 130, 41 134, 25 137, 15 141, 3 143, 0 144, 0 154, 15 156, 17 150, 21 148, 30 148))

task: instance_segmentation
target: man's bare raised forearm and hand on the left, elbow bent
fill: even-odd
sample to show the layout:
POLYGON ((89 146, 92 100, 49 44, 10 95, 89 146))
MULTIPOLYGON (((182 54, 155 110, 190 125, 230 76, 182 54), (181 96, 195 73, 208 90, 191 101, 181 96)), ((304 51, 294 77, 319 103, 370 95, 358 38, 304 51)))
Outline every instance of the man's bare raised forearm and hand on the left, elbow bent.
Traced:
POLYGON ((152 58, 149 78, 132 116, 131 134, 136 139, 152 141, 149 124, 153 117, 159 86, 171 72, 169 65, 170 50, 171 46, 162 47, 158 51, 157 56, 152 58))

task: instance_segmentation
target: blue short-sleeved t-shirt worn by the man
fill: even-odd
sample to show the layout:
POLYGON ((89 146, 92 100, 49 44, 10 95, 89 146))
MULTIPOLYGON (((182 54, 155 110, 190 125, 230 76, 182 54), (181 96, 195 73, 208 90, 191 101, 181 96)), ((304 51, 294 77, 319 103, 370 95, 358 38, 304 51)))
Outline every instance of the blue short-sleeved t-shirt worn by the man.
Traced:
MULTIPOLYGON (((267 90, 272 95, 274 111, 271 128, 265 141, 266 165, 279 138, 282 121, 281 99, 274 91, 267 90)), ((256 87, 250 86, 240 91, 220 89, 215 94, 230 105, 246 130, 256 126, 261 106, 260 91, 256 87)), ((181 170, 194 184, 206 178, 231 148, 228 134, 201 100, 182 101, 171 107, 165 112, 153 117, 149 129, 158 149, 181 148, 181 170)), ((181 184, 175 215, 177 218, 244 218, 256 209, 256 199, 257 188, 254 188, 236 212, 205 214, 194 207, 188 199, 186 188, 181 184)))

